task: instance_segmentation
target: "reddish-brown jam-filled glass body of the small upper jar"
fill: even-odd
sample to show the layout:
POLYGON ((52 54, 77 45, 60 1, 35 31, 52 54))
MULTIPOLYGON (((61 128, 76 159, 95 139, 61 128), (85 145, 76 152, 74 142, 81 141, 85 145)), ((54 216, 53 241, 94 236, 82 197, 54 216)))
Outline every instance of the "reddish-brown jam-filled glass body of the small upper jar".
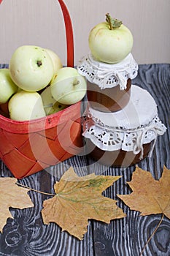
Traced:
POLYGON ((95 110, 102 112, 122 110, 131 97, 131 79, 127 80, 127 86, 124 90, 120 90, 119 85, 101 89, 97 84, 88 81, 87 97, 90 107, 95 110))

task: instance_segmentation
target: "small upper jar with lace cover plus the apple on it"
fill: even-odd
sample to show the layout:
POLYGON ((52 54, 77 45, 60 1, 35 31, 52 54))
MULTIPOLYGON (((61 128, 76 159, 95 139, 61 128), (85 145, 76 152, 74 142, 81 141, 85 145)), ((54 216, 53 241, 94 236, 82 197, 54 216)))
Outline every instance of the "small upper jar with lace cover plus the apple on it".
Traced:
POLYGON ((131 54, 133 35, 121 20, 109 13, 106 21, 90 30, 90 53, 78 66, 88 80, 90 107, 102 112, 122 110, 131 97, 131 78, 137 64, 131 54))

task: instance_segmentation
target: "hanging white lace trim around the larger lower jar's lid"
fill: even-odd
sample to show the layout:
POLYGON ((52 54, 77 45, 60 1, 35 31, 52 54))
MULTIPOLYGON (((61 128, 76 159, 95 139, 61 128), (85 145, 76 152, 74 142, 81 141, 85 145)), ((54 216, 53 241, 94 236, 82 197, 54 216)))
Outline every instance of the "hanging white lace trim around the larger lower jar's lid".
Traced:
MULTIPOLYGON (((141 152, 143 157, 143 144, 156 141, 158 135, 163 135, 166 127, 158 116, 150 121, 145 127, 138 129, 123 129, 123 127, 102 127, 94 124, 91 118, 85 117, 83 121, 83 133, 85 138, 90 139, 94 145, 104 151, 133 151, 134 154, 141 152)), ((153 143, 152 148, 155 143, 153 143)))

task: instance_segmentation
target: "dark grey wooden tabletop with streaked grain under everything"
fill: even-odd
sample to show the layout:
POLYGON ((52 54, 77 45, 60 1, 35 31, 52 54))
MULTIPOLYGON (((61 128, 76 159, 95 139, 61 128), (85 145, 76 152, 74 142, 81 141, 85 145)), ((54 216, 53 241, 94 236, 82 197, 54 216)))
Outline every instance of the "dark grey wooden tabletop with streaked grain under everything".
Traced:
MULTIPOLYGON (((0 65, 0 67, 6 67, 0 65)), ((147 89, 158 105, 158 116, 168 128, 163 136, 158 136, 151 158, 139 163, 139 167, 150 171, 155 179, 161 178, 163 165, 170 169, 169 159, 169 102, 170 64, 139 65, 139 74, 133 84, 147 89)), ((69 233, 61 232, 61 227, 51 223, 44 225, 41 217, 42 201, 50 196, 28 192, 34 208, 23 210, 10 208, 14 219, 7 219, 3 233, 0 233, 0 255, 12 256, 139 256, 144 244, 161 220, 161 214, 140 217, 138 211, 130 211, 117 194, 130 194, 126 181, 131 180, 135 167, 114 168, 100 165, 85 155, 67 159, 61 164, 42 170, 20 180, 21 184, 44 192, 53 192, 53 184, 63 173, 74 167, 80 176, 95 172, 97 175, 123 176, 109 187, 104 195, 117 200, 127 217, 114 219, 110 224, 89 220, 88 232, 82 241, 69 233)), ((12 177, 12 173, 1 162, 1 176, 12 177)), ((145 256, 170 255, 170 220, 163 218, 161 226, 152 237, 143 254, 145 256)))

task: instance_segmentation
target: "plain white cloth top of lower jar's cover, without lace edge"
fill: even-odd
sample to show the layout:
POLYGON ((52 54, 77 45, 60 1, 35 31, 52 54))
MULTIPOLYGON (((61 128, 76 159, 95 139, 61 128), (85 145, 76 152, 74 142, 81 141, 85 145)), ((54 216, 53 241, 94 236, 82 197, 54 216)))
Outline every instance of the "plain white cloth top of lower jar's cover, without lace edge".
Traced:
POLYGON ((157 105, 151 94, 136 85, 131 85, 131 97, 123 110, 104 113, 88 108, 88 112, 96 123, 125 129, 145 126, 158 114, 157 105))

